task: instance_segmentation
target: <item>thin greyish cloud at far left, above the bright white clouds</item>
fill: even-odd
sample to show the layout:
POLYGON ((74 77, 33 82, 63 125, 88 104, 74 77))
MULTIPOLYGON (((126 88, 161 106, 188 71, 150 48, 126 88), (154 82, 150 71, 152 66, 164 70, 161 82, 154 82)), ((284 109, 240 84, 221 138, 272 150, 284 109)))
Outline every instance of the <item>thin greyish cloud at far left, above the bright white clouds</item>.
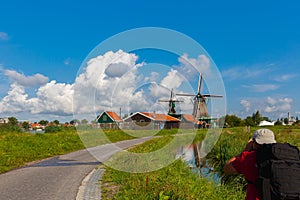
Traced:
POLYGON ((4 70, 4 74, 9 77, 10 81, 25 87, 41 86, 49 81, 48 77, 42 74, 25 76, 14 70, 4 70))

